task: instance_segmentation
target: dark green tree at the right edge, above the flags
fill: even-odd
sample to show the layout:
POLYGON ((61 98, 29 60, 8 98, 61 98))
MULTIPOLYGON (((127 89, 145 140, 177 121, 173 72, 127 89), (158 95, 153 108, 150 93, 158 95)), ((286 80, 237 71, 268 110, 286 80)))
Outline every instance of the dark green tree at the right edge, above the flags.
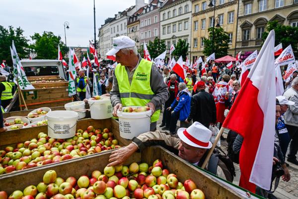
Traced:
POLYGON ((266 32, 262 35, 264 41, 271 30, 275 32, 275 45, 282 43, 283 48, 286 48, 291 44, 293 51, 298 51, 298 27, 279 24, 278 21, 268 21, 266 32))

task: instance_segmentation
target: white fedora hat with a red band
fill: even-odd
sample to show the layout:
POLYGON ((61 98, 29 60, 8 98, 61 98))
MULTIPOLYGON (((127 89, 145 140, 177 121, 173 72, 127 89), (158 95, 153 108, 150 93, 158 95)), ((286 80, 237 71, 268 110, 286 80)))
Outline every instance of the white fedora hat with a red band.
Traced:
POLYGON ((177 133, 179 138, 190 146, 203 149, 210 149, 212 147, 212 143, 210 142, 212 132, 200 122, 195 121, 188 128, 179 128, 177 133))

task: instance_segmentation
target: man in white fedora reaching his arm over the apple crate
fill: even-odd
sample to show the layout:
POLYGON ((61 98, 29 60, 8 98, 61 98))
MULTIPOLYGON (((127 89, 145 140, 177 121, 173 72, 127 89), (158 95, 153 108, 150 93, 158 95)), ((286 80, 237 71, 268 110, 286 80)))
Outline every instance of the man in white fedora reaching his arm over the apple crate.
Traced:
MULTIPOLYGON (((212 147, 211 130, 200 122, 194 122, 188 128, 179 128, 177 136, 156 130, 134 137, 131 144, 112 152, 107 166, 122 165, 134 152, 143 150, 146 146, 159 144, 174 152, 192 165, 201 167, 209 149, 212 147)), ((232 182, 232 175, 227 166, 213 153, 207 166, 207 171, 232 182)))

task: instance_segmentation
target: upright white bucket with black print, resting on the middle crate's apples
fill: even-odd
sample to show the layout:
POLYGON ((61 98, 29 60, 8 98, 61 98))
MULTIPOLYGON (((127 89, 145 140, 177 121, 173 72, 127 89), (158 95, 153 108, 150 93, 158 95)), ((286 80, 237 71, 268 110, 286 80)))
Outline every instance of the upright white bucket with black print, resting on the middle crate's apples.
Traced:
POLYGON ((78 114, 70 110, 54 110, 46 115, 48 135, 51 138, 67 139, 75 135, 78 114))

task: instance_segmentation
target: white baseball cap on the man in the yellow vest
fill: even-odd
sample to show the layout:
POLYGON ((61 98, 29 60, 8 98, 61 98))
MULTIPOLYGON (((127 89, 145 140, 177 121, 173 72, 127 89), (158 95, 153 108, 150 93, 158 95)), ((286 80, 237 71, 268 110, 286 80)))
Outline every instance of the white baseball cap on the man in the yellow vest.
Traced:
POLYGON ((136 42, 128 36, 120 36, 113 39, 113 48, 106 55, 115 55, 120 49, 135 47, 136 42))

